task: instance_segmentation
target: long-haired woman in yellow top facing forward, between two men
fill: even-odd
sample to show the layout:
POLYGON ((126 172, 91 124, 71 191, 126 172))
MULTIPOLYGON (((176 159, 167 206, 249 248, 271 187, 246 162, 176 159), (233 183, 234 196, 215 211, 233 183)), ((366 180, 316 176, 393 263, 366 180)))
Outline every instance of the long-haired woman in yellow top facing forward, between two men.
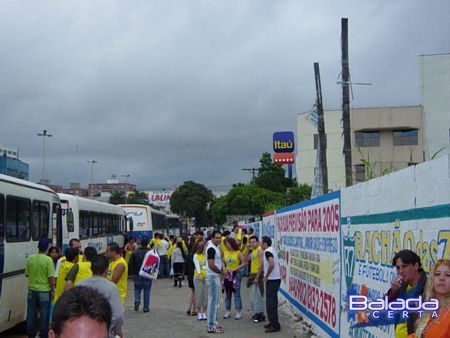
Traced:
POLYGON ((224 241, 225 248, 223 254, 223 264, 227 271, 227 275, 223 280, 225 289, 225 308, 226 312, 223 318, 230 318, 231 297, 234 293, 234 307, 236 316, 234 319, 241 319, 242 300, 241 300, 241 268, 247 264, 245 257, 239 251, 239 245, 234 238, 226 238, 224 241))

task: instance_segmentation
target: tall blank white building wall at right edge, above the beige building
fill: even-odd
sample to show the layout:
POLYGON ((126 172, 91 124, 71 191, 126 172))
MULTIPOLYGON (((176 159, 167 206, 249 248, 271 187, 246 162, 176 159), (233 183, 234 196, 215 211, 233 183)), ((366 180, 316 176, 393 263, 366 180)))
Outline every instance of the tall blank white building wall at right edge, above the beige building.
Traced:
POLYGON ((450 154, 450 54, 420 55, 425 159, 450 154))

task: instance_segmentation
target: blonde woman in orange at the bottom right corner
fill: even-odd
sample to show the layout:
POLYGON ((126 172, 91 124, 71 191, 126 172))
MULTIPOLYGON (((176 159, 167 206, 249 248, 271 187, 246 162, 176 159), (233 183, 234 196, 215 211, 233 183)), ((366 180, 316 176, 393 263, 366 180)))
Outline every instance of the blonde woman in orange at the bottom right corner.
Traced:
POLYGON ((439 301, 437 317, 424 312, 418 320, 417 329, 408 338, 450 337, 450 259, 440 259, 432 269, 425 286, 424 299, 439 301))

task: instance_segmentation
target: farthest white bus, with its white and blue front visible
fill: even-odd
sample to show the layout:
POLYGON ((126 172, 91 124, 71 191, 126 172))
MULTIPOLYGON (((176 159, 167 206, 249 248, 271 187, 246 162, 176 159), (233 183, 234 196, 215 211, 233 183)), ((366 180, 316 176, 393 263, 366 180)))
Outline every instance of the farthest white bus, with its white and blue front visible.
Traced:
POLYGON ((127 232, 130 237, 153 237, 154 232, 167 234, 167 215, 143 204, 121 204, 127 217, 127 232))

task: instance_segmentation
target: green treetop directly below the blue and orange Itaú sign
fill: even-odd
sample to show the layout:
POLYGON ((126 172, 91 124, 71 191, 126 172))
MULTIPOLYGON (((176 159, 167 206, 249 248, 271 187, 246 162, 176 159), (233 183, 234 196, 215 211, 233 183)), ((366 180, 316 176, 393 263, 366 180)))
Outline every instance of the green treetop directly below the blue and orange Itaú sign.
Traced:
POLYGON ((285 177, 285 170, 281 165, 272 163, 270 153, 264 152, 259 163, 261 166, 258 169, 258 176, 252 182, 258 187, 274 192, 285 192, 294 185, 293 180, 285 177))

